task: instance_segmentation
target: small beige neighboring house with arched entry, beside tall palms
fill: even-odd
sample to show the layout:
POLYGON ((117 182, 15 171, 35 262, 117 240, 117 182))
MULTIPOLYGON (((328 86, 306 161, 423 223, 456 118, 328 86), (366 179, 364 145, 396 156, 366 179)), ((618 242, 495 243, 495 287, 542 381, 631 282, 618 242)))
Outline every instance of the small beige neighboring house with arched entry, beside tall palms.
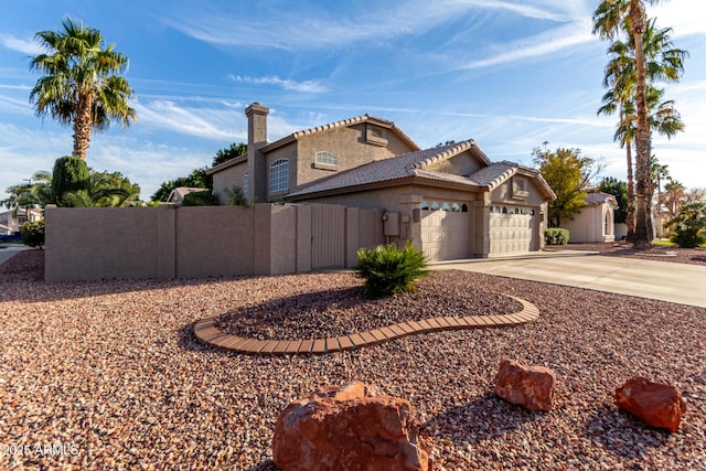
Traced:
POLYGON ((573 221, 561 226, 569 231, 569 243, 616 240, 616 196, 596 192, 586 196, 586 204, 573 221))

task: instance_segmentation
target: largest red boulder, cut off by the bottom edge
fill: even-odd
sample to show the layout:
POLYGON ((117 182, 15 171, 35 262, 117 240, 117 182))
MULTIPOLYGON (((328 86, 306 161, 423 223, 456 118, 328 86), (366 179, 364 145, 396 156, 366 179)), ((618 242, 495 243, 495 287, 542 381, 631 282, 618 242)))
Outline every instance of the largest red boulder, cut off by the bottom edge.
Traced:
POLYGON ((272 458, 285 471, 432 469, 409 402, 375 396, 360 382, 287 406, 272 458))

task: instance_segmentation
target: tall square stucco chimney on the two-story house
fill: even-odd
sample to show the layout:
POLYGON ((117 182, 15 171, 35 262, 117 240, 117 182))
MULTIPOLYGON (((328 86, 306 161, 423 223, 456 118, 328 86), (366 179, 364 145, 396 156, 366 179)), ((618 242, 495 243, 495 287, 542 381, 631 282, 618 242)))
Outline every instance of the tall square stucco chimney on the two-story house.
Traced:
POLYGON ((267 201, 267 162, 260 149, 267 144, 267 114, 269 108, 255 101, 245 109, 247 116, 247 199, 256 203, 267 201))

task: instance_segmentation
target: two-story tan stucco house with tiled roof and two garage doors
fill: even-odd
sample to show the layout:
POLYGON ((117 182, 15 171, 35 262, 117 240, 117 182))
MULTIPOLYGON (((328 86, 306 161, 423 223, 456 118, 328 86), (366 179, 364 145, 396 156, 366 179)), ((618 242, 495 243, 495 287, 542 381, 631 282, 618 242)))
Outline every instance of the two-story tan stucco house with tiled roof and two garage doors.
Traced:
POLYGON ((413 240, 432 260, 538 250, 547 202, 538 171, 491 162, 473 140, 421 150, 394 122, 368 115, 267 142, 250 105, 248 154, 207 171, 222 204, 239 186, 256 202, 383 208, 387 240, 413 240))

